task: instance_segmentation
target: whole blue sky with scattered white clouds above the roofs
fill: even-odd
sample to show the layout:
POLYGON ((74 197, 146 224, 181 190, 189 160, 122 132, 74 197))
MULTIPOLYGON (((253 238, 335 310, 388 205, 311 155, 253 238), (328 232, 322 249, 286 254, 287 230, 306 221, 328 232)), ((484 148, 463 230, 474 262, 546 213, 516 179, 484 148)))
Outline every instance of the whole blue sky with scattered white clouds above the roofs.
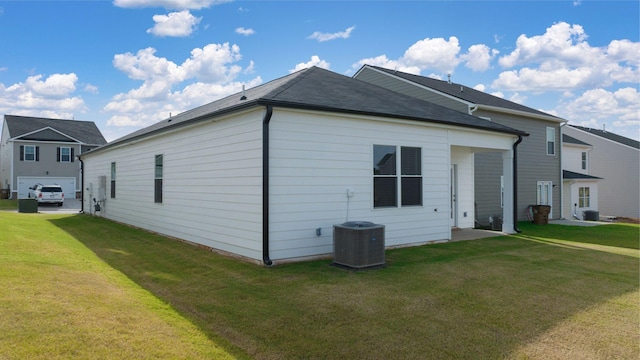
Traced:
POLYGON ((640 2, 0 0, 0 114, 114 140, 320 66, 446 79, 640 139, 640 2))

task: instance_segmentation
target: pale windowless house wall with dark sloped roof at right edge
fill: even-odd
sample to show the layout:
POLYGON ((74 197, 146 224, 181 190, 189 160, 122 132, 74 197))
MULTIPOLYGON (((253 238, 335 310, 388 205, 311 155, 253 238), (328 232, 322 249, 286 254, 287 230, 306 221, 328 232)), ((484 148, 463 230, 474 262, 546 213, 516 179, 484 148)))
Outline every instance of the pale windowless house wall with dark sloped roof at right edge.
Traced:
POLYGON ((597 193, 600 216, 640 218, 640 142, 575 125, 563 127, 563 133, 592 146, 587 168, 603 178, 597 193))

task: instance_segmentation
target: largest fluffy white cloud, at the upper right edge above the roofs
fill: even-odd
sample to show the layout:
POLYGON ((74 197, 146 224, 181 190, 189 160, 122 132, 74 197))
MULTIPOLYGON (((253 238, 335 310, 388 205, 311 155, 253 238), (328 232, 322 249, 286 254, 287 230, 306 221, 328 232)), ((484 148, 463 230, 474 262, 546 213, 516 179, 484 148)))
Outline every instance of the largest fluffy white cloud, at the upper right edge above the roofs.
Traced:
POLYGON ((570 90, 608 87, 615 82, 638 83, 640 43, 614 40, 607 47, 592 47, 580 25, 561 22, 544 35, 521 35, 516 49, 499 59, 506 68, 493 87, 508 90, 570 90))

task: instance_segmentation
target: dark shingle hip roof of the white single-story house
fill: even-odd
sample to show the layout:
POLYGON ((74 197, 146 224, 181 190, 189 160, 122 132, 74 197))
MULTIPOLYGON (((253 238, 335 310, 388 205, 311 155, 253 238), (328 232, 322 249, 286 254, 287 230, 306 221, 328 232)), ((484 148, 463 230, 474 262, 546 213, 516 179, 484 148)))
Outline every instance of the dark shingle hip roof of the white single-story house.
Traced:
MULTIPOLYGON (((329 70, 312 67, 244 92, 186 111, 133 132, 111 144, 140 138, 204 118, 255 106, 273 106, 401 118, 470 127, 513 135, 527 134, 476 116, 406 96, 329 70)), ((102 147, 105 148, 105 147, 102 147)), ((99 150, 99 149, 96 149, 99 150)))

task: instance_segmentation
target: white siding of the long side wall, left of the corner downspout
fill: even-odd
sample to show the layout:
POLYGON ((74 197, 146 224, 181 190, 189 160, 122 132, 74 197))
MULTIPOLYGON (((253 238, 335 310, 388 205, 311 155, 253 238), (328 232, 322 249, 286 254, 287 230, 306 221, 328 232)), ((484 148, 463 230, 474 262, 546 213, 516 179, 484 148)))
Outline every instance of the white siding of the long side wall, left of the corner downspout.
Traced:
POLYGON ((105 217, 261 260, 263 117, 256 110, 87 155, 86 187, 96 192, 117 161, 118 197, 105 202, 105 217), (162 206, 154 203, 158 154, 162 206))

